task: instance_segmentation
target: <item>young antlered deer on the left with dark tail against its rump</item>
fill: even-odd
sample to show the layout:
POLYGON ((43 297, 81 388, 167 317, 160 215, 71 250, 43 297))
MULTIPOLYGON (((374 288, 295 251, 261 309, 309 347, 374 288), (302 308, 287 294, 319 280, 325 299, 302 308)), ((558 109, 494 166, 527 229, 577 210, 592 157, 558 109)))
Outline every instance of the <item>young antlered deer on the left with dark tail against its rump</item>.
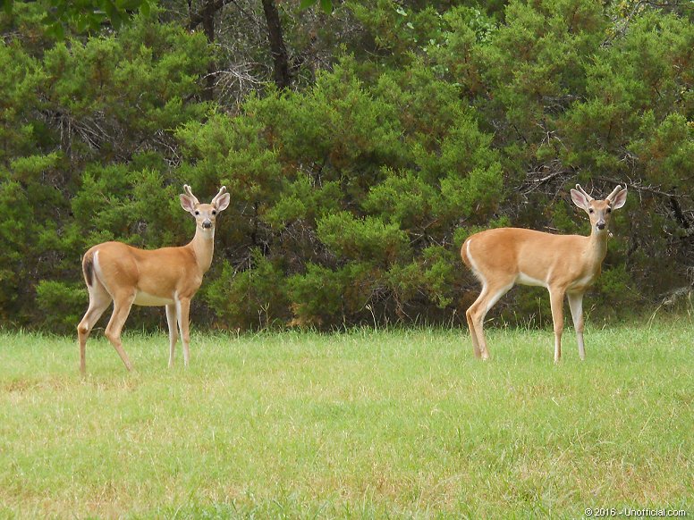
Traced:
POLYGON ((106 338, 121 356, 128 371, 132 363, 123 350, 121 331, 131 307, 165 306, 169 328, 169 368, 174 366, 178 340, 176 323, 183 344, 183 362, 190 361, 190 300, 202 284, 212 264, 215 249, 215 223, 219 212, 229 205, 230 196, 222 186, 209 204, 200 204, 187 184, 179 195, 182 208, 195 217, 195 236, 182 247, 139 249, 123 242, 104 242, 91 247, 82 257, 82 273, 89 290, 89 308, 77 326, 80 342, 80 372, 86 373, 89 332, 106 308, 114 304, 106 325, 106 338))

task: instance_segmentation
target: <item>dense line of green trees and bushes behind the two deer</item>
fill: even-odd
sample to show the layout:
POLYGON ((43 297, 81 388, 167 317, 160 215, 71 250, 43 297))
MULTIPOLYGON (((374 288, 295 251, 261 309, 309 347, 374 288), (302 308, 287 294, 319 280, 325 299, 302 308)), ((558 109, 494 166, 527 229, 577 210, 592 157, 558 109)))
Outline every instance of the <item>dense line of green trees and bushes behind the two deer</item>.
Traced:
MULTIPOLYGON (((588 234, 577 182, 631 194, 588 313, 690 298, 686 3, 4 4, 4 326, 72 331, 98 242, 190 240, 184 183, 232 194, 192 310, 209 326, 464 323, 463 240, 588 234)), ((543 291, 514 289, 496 316, 546 323, 543 291)))

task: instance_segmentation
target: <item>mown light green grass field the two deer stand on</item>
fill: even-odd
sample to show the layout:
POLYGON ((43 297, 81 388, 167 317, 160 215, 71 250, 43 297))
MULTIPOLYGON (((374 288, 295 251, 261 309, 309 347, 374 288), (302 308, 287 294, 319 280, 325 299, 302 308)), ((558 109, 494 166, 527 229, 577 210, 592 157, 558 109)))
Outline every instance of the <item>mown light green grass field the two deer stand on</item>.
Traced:
POLYGON ((0 517, 694 514, 694 325, 573 331, 0 333, 0 517), (179 346, 180 348, 180 346, 179 346), (180 352, 180 350, 179 350, 180 352))

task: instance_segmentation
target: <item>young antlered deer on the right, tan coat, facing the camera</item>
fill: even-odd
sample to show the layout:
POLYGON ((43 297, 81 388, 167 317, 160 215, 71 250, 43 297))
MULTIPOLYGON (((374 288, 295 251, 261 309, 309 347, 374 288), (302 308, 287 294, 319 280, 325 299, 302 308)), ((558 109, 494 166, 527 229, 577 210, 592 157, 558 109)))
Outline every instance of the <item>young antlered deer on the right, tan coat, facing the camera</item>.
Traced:
POLYGON ((573 204, 588 214, 590 235, 555 235, 519 228, 481 231, 463 242, 461 257, 482 291, 465 313, 476 357, 489 359, 484 320, 489 310, 515 284, 549 290, 554 323, 554 363, 562 357, 563 299, 566 295, 578 340, 581 361, 583 342, 583 295, 600 275, 607 253, 607 226, 615 209, 626 203, 627 189, 618 185, 604 200, 590 197, 576 185, 573 204))

